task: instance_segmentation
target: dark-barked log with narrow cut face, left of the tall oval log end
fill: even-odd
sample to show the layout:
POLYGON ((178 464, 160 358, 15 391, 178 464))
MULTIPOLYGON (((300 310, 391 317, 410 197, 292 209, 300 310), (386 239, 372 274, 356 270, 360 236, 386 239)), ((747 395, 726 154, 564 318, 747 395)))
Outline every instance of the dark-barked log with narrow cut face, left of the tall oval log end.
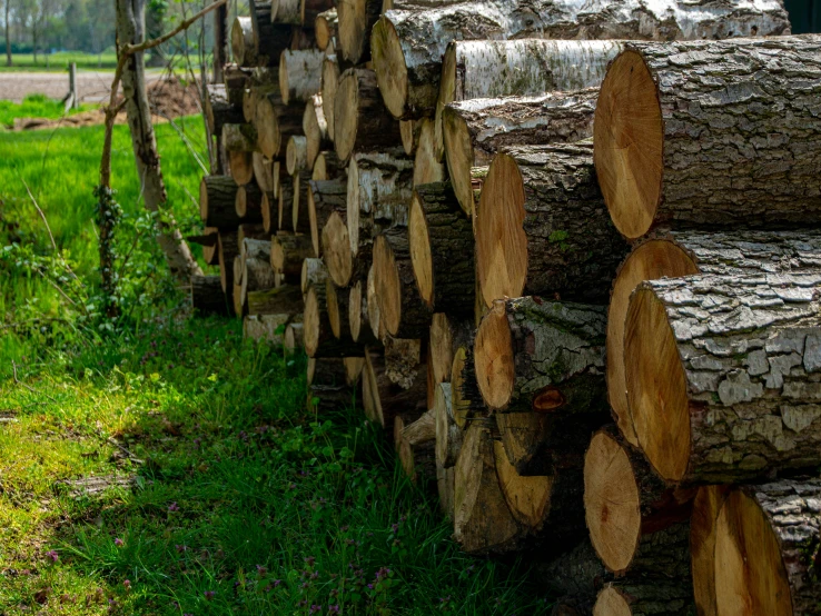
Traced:
POLYGON ((416 286, 425 304, 455 317, 473 315, 473 222, 459 209, 449 182, 414 189, 408 237, 416 286))

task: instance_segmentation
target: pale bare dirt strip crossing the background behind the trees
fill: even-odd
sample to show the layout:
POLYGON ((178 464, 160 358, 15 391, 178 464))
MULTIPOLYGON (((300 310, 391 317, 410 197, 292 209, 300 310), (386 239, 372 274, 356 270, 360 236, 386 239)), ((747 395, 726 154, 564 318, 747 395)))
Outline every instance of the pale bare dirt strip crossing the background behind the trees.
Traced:
MULTIPOLYGON (((147 81, 161 77, 148 72, 147 81)), ((113 71, 77 71, 77 89, 81 102, 100 102, 108 97, 113 71)), ((0 99, 20 102, 27 95, 42 93, 61 99, 68 93, 68 72, 0 72, 0 99)))

